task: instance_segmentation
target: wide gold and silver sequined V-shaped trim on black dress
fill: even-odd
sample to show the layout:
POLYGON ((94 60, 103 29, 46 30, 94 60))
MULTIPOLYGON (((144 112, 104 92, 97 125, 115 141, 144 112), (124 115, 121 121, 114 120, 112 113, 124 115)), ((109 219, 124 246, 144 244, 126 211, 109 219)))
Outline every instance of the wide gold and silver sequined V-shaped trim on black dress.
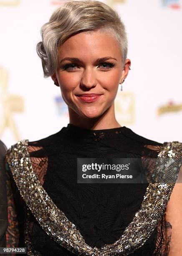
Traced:
MULTIPOLYGON (((178 141, 163 143, 157 156, 152 182, 147 187, 140 209, 121 237, 116 242, 101 248, 92 248, 85 243, 76 225, 56 207, 42 187, 33 170, 28 152, 28 140, 18 141, 8 149, 6 158, 28 210, 30 209, 40 226, 54 241, 77 255, 124 256, 134 252, 147 241, 164 213, 182 164, 181 153, 182 143, 178 141), (173 158, 178 161, 174 161, 173 158), (161 179, 162 183, 159 182, 161 179)), ((31 249, 28 238, 25 244, 28 255, 39 255, 31 249)))

